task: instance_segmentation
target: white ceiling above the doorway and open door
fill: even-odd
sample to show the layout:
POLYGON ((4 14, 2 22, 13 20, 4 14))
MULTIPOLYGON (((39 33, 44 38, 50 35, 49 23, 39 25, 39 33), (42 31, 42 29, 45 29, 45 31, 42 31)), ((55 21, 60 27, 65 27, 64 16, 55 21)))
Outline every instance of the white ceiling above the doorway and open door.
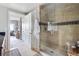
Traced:
POLYGON ((41 3, 0 3, 0 5, 21 13, 28 13, 29 11, 33 10, 34 8, 42 4, 41 3))

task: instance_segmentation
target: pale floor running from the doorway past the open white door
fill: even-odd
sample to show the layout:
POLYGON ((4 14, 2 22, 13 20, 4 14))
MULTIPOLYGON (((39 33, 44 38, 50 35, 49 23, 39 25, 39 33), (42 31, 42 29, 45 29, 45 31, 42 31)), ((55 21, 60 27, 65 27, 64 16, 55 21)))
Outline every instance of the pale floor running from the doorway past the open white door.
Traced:
MULTIPOLYGON (((26 40, 27 41, 27 40, 26 40)), ((16 37, 10 37, 10 48, 17 48, 22 56, 32 56, 35 55, 36 52, 32 51, 29 47, 30 43, 26 43, 25 40, 17 39, 16 37)))

